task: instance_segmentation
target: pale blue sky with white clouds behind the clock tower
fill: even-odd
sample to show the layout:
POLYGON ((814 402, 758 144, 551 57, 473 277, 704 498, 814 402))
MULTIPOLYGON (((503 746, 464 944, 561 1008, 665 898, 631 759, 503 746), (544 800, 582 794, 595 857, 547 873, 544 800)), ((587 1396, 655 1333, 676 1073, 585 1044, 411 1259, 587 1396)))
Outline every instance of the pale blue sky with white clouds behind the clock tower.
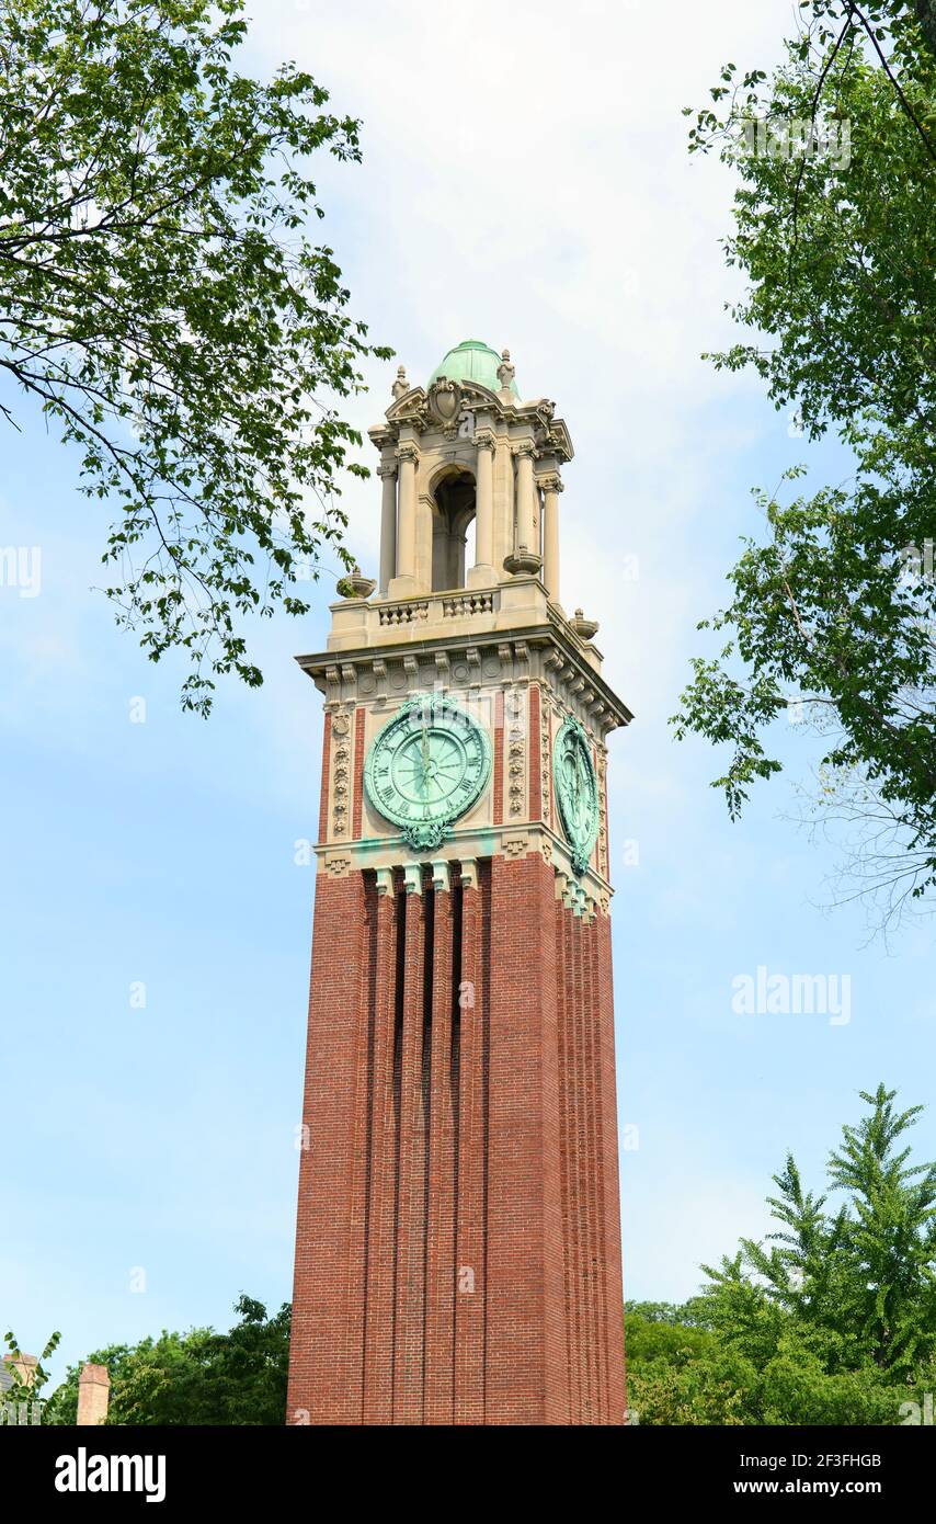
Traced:
MULTIPOLYGON (((756 378, 700 358, 733 334, 732 183, 686 154, 681 107, 726 59, 776 59, 793 14, 296 0, 255 8, 242 58, 294 58, 363 120, 363 165, 316 169, 322 229, 398 358, 367 367, 349 416, 380 421, 396 363, 424 381, 482 338, 572 431, 563 602, 599 620, 636 716, 608 774, 633 1300, 694 1294, 701 1263, 768 1231, 790 1149, 817 1189, 860 1090, 933 1099, 931 934, 884 946, 858 907, 828 908, 835 850, 790 818, 816 739, 785 727, 788 770, 732 824, 721 759, 668 724, 712 649, 695 626, 762 530, 750 489, 796 462, 816 485, 848 474, 756 378), (759 968, 834 977, 838 1018, 733 1009, 759 968)), ((325 645, 332 584, 253 631, 259 692, 229 681, 210 721, 183 715, 181 661, 146 661, 96 591, 107 504, 15 402, 0 547, 41 575, 35 596, 0 585, 0 1315, 24 1349, 61 1329, 61 1375, 162 1327, 227 1327, 242 1291, 290 1297, 314 893, 294 844, 316 834, 322 733, 293 655, 325 645)), ((345 506, 372 572, 378 479, 351 479, 345 506)), ((936 1152, 936 1109, 915 1145, 936 1152)))

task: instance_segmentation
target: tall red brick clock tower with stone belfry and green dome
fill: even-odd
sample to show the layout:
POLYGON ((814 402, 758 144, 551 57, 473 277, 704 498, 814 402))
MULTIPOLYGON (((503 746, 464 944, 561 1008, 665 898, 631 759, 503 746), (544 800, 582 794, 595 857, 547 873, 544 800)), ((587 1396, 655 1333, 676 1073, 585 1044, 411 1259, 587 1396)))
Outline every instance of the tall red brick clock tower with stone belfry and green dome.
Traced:
POLYGON ((370 430, 325 696, 290 1423, 622 1423, 605 738, 569 431, 468 341, 370 430), (465 567, 470 527, 474 564, 465 567))

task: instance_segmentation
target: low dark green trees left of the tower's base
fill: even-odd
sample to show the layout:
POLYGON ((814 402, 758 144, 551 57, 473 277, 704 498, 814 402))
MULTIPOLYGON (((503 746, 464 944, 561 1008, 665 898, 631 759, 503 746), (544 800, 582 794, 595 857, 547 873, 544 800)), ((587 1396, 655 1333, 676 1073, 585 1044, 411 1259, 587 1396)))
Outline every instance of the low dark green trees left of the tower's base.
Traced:
MULTIPOLYGON (((139 1344, 111 1344, 88 1358, 111 1378, 107 1422, 113 1425, 285 1423, 290 1306, 267 1318, 262 1301, 241 1295, 227 1334, 191 1329, 139 1344)), ((81 1364, 70 1366, 46 1408, 47 1423, 78 1414, 81 1364)))

